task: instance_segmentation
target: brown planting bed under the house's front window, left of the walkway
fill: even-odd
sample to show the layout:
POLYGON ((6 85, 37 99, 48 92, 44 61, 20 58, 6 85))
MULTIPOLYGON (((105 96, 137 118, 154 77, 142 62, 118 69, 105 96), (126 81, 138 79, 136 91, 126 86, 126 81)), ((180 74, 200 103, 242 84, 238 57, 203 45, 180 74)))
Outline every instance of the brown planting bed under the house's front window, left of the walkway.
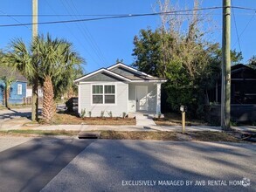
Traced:
MULTIPOLYGON (((45 120, 39 120, 40 124, 46 124, 45 120)), ((56 113, 50 122, 51 125, 114 125, 114 126, 120 126, 120 125, 135 125, 136 120, 133 118, 109 118, 109 117, 85 117, 80 118, 77 115, 74 115, 73 113, 56 113)))

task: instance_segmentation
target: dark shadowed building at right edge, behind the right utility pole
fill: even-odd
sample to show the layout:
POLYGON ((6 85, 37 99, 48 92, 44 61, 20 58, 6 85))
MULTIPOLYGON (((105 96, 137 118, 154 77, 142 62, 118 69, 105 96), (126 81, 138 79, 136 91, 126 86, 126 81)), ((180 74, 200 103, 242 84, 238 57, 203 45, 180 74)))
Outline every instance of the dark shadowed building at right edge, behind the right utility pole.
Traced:
MULTIPOLYGON (((221 80, 211 90, 209 99, 211 121, 220 120, 221 80)), ((234 122, 255 122, 256 120, 256 70, 248 65, 231 67, 231 118, 234 122)))

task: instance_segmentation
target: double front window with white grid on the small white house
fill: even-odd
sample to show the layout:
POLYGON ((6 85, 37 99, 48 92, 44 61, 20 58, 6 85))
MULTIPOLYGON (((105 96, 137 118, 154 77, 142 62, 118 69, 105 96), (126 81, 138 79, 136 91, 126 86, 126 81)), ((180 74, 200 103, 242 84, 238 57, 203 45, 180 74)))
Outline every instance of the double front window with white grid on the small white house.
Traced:
POLYGON ((93 104, 114 104, 115 86, 93 86, 93 104))

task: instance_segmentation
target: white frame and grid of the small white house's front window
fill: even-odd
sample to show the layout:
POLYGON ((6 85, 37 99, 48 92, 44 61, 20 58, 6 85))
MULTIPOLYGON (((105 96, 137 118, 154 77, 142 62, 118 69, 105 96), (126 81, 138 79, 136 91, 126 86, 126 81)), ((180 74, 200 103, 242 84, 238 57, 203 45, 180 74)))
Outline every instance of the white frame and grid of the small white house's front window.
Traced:
POLYGON ((116 85, 115 84, 92 84, 91 85, 91 105, 97 105, 97 106, 116 106, 116 85), (93 93, 93 86, 103 86, 103 93, 93 93), (114 86, 114 93, 105 93, 105 86, 114 86), (93 103, 93 95, 102 95, 103 96, 103 103, 93 103), (105 103, 105 95, 114 95, 114 103, 105 103))

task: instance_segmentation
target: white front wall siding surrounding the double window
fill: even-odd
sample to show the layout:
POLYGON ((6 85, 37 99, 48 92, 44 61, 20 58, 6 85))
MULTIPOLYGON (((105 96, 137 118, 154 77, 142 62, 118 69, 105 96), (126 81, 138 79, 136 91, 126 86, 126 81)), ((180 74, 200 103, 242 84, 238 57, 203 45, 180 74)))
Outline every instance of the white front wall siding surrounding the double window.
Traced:
POLYGON ((121 117, 122 113, 128 113, 128 84, 123 82, 81 82, 80 83, 80 112, 86 110, 91 112, 92 117, 100 117, 100 113, 104 111, 104 116, 108 117, 108 113, 112 112, 114 117, 121 117), (93 85, 115 85, 115 104, 93 104, 92 102, 92 86, 93 85))

